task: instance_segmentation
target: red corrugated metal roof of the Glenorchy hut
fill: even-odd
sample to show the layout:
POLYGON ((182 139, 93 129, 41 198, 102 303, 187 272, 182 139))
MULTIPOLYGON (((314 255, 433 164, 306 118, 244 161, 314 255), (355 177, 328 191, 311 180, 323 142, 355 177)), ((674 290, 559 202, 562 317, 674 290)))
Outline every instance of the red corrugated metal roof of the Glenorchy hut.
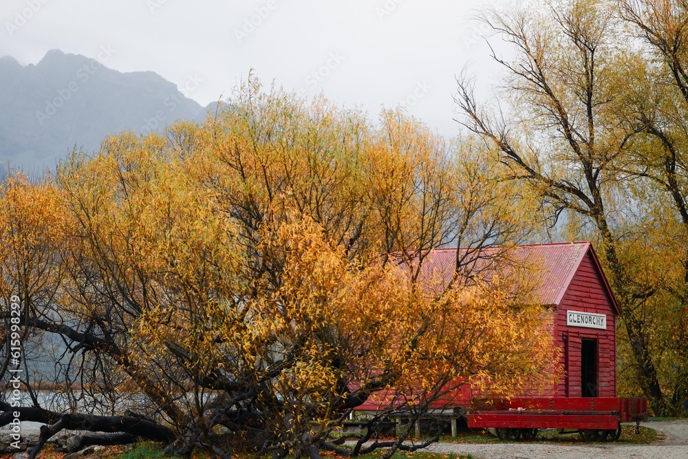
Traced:
POLYGON ((535 295, 539 303, 543 306, 557 306, 561 303, 566 289, 581 265, 581 261, 585 258, 585 254, 590 251, 601 274, 603 284, 609 292, 610 300, 614 308, 617 311, 619 309, 590 242, 531 244, 517 246, 508 251, 501 247, 484 248, 475 253, 471 253, 471 249, 466 248, 458 250, 459 253, 455 248, 431 250, 423 261, 422 277, 443 279, 448 284, 454 272, 457 255, 466 258, 464 261, 473 260, 470 263, 473 268, 477 270, 486 268, 489 271, 490 260, 498 253, 504 253, 505 257, 515 261, 528 261, 528 263, 533 264, 536 268, 533 273, 539 275, 539 279, 534 279, 537 281, 535 295))

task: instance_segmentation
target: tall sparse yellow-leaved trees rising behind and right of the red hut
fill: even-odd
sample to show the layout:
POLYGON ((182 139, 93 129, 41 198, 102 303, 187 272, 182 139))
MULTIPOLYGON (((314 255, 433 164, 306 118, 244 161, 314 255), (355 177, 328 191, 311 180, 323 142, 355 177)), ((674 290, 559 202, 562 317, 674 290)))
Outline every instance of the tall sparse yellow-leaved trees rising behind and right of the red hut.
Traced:
POLYGON ((563 215, 569 235, 596 241, 631 356, 622 378, 675 414, 688 396, 687 4, 544 1, 480 19, 515 50, 493 54, 507 103, 477 103, 464 74, 461 121, 550 224, 563 215))

